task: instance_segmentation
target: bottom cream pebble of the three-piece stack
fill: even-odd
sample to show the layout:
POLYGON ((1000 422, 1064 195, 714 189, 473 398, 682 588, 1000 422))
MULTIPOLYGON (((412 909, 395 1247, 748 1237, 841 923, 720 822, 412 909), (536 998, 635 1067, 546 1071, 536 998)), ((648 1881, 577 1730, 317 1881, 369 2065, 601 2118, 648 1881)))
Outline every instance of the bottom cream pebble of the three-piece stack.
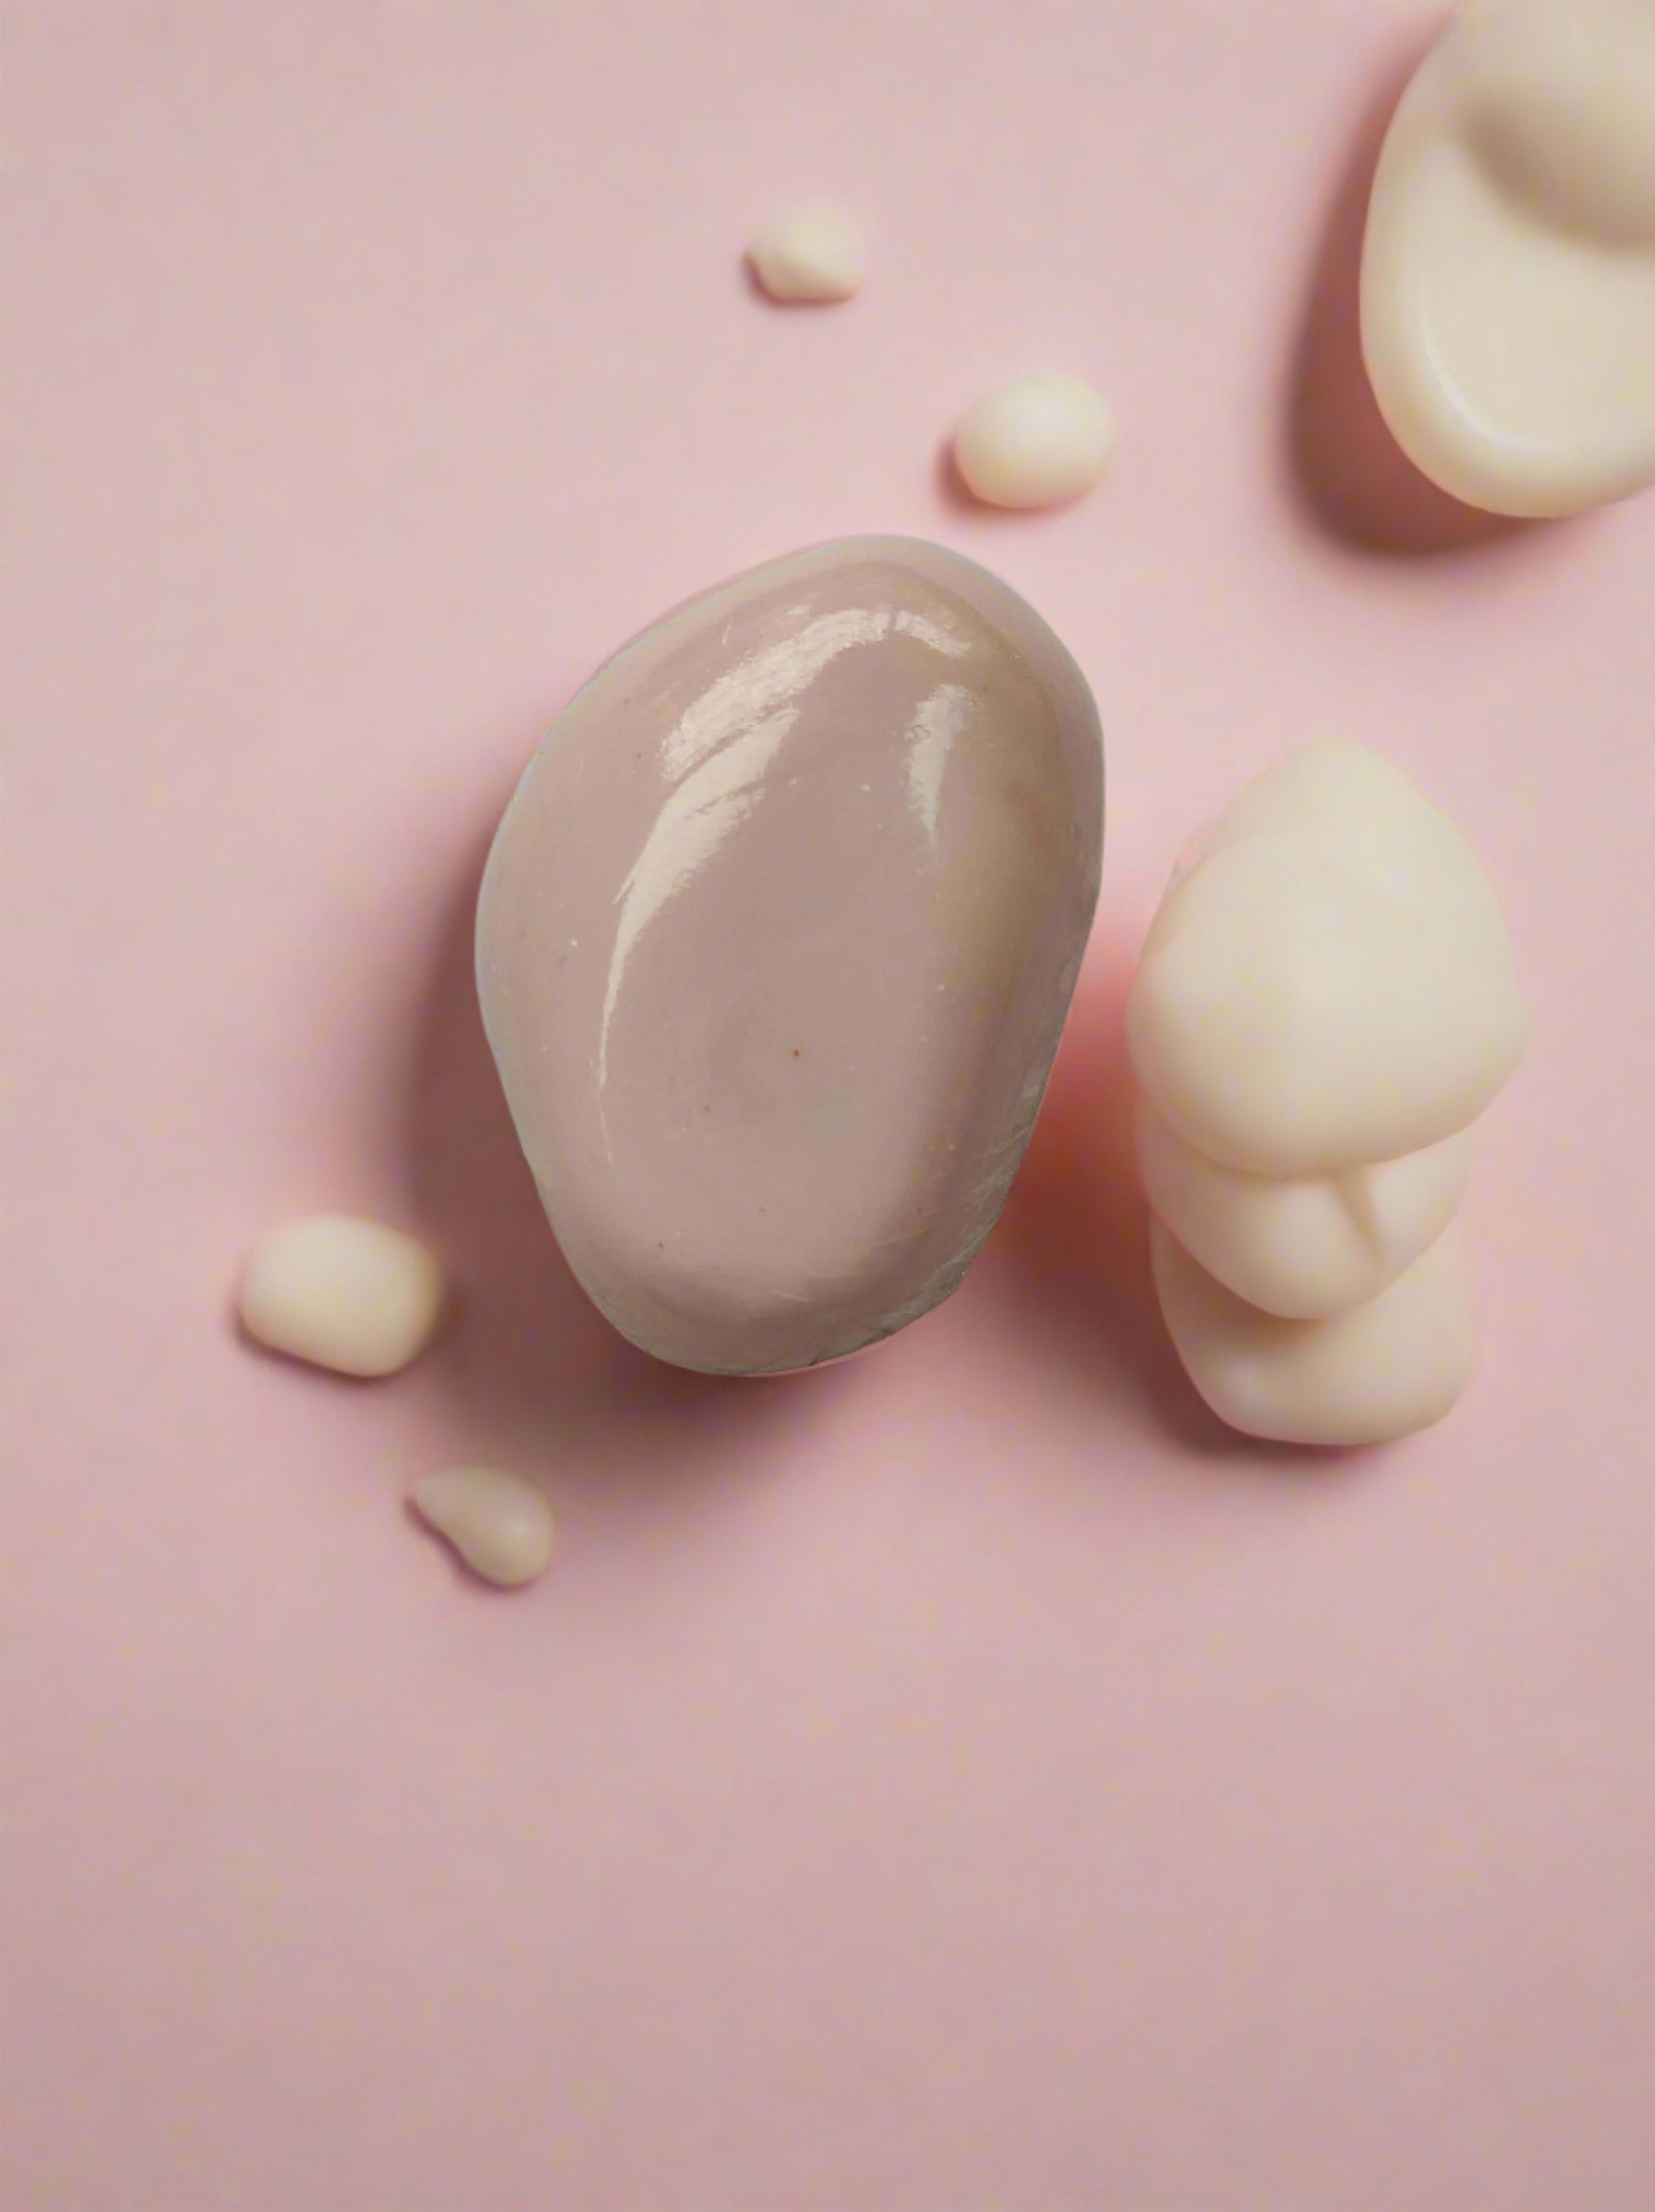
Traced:
POLYGON ((1389 1444, 1443 1420, 1471 1380, 1476 1329, 1458 1225, 1376 1298, 1283 1321, 1237 1298, 1151 1223, 1155 1290, 1190 1383, 1243 1436, 1389 1444))

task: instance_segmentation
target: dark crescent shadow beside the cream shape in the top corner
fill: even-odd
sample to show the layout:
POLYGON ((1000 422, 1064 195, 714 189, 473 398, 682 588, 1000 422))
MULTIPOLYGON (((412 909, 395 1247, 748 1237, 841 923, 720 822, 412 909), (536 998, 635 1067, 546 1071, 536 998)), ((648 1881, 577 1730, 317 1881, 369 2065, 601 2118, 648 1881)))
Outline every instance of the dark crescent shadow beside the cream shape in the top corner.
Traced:
POLYGON ((1412 38, 1356 128, 1310 276, 1286 411, 1294 489, 1328 535, 1367 553, 1432 555, 1511 542, 1533 524, 1485 515, 1420 476, 1392 438, 1361 347, 1367 195, 1396 104, 1429 40, 1412 38))

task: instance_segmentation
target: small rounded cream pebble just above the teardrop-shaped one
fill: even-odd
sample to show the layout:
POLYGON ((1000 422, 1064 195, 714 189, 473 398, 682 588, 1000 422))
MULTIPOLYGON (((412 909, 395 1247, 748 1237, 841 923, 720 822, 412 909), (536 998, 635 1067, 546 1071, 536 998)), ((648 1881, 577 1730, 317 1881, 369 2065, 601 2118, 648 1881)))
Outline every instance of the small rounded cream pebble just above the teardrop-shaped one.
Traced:
POLYGON ((248 1336, 345 1376, 407 1367, 443 1312, 443 1267, 403 1230, 352 1214, 305 1214, 270 1230, 241 1276, 248 1336))

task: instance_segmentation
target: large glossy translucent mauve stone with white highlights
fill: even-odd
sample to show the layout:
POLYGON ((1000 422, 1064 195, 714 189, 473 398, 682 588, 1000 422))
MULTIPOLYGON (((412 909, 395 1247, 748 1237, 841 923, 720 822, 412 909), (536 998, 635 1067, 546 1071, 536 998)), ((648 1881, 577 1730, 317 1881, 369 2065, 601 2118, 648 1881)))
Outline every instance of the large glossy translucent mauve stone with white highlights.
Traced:
POLYGON ((478 989, 615 1327, 774 1374, 945 1298, 1022 1159, 1100 847, 1084 677, 940 546, 770 562, 611 659, 500 825, 478 989))

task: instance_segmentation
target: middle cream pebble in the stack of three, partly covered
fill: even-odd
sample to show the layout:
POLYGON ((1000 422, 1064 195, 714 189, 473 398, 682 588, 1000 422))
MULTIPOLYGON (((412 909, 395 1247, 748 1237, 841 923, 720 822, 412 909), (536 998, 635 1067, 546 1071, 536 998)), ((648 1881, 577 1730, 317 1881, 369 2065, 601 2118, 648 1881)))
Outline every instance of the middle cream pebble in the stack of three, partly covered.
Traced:
POLYGON ((1350 1312, 1396 1281, 1454 1219, 1471 1152, 1467 1128, 1372 1168, 1272 1181, 1221 1168, 1137 1108, 1151 1210, 1226 1290, 1288 1321, 1350 1312))

